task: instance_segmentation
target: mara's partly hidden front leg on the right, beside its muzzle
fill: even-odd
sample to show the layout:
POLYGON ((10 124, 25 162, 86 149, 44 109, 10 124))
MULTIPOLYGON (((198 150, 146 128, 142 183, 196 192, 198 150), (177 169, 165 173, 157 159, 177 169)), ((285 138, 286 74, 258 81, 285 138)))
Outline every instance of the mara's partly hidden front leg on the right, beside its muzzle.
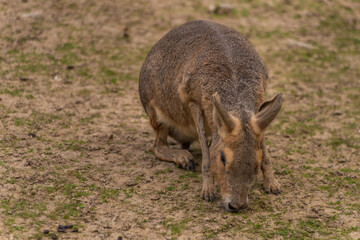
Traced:
POLYGON ((261 170, 264 175, 264 190, 266 193, 272 192, 277 195, 281 193, 281 187, 274 177, 274 171, 271 165, 270 157, 265 146, 265 137, 263 137, 261 140, 261 149, 263 153, 261 170))

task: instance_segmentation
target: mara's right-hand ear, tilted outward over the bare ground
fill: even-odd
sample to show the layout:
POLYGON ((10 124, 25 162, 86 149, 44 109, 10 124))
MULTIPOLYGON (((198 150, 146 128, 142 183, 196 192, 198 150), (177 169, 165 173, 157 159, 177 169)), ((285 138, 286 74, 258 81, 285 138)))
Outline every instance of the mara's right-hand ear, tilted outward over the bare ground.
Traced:
POLYGON ((260 131, 264 131, 274 120, 281 109, 282 101, 282 93, 279 93, 272 100, 261 104, 258 113, 255 115, 255 122, 260 131))

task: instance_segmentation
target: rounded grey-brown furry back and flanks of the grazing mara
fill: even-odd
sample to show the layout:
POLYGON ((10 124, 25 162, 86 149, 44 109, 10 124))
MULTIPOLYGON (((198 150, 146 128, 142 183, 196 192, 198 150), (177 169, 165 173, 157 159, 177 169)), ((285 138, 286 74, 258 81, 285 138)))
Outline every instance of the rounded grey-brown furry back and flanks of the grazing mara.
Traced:
MULTIPOLYGON (((150 101, 155 102, 170 119, 187 126, 192 121, 187 101, 200 104, 210 120, 215 92, 227 111, 256 113, 267 78, 264 62, 240 33, 216 23, 192 21, 154 45, 140 72, 139 91, 146 111, 150 101), (181 84, 185 100, 179 95, 181 84)), ((212 123, 207 124, 211 128, 212 123)))

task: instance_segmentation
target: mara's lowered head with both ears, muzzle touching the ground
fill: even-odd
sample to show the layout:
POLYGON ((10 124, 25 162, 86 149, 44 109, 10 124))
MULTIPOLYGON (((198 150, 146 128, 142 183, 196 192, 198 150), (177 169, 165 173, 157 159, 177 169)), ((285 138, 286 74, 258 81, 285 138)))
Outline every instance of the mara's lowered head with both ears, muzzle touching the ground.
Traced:
POLYGON ((224 207, 236 212, 248 206, 248 192, 262 161, 263 133, 281 109, 282 94, 264 102, 257 113, 245 116, 227 112, 218 94, 213 103, 219 140, 211 152, 212 171, 216 172, 224 207))

